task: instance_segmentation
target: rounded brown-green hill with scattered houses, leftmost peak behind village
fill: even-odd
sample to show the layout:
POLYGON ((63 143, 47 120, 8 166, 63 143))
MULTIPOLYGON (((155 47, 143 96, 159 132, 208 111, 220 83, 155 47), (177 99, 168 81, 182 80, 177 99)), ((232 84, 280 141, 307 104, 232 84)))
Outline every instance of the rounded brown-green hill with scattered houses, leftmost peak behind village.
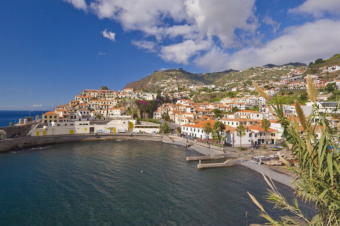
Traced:
POLYGON ((125 88, 171 91, 177 87, 189 88, 190 86, 210 85, 231 71, 235 72, 235 70, 227 70, 197 74, 185 71, 182 68, 155 71, 143 79, 127 84, 125 88))

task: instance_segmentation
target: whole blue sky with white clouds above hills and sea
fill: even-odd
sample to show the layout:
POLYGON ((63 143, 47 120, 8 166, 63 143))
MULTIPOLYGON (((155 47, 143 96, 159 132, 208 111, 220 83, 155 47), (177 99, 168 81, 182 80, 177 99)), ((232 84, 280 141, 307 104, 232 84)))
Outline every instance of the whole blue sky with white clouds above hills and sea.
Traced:
POLYGON ((0 0, 0 110, 50 109, 166 68, 328 58, 340 52, 340 1, 322 2, 0 0))

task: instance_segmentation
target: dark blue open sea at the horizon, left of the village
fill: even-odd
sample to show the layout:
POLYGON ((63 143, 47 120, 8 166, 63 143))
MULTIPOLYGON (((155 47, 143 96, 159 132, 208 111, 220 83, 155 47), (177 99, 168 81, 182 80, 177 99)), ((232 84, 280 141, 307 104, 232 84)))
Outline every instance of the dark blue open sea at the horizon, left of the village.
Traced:
POLYGON ((9 126, 8 123, 12 122, 13 125, 15 122, 19 122, 19 119, 24 119, 25 117, 28 117, 31 115, 31 117, 35 120, 35 116, 39 115, 41 118, 41 115, 44 111, 1 111, 0 110, 0 127, 2 126, 9 126))

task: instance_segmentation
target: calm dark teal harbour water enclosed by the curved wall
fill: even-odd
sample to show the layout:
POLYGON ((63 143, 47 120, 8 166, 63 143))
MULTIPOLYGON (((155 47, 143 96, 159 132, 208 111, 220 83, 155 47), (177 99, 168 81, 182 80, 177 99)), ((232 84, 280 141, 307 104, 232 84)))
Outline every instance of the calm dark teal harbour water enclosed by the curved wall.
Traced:
POLYGON ((197 154, 134 141, 1 153, 0 225, 246 225, 246 211, 248 224, 263 223, 246 193, 263 203, 267 185, 259 173, 242 166, 198 170, 187 156, 197 154))

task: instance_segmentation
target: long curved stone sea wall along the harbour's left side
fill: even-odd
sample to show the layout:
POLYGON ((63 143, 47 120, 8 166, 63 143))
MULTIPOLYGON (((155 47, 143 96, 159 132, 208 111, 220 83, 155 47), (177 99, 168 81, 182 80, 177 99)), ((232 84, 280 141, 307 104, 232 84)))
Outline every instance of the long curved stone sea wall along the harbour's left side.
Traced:
MULTIPOLYGON (((167 136, 164 136, 165 142, 167 136)), ((78 141, 94 141, 94 140, 140 140, 140 141, 158 141, 163 142, 163 134, 66 134, 51 135, 39 137, 22 137, 16 139, 0 140, 0 152, 11 151, 14 149, 29 148, 33 146, 49 145, 57 143, 69 143, 78 141)))

